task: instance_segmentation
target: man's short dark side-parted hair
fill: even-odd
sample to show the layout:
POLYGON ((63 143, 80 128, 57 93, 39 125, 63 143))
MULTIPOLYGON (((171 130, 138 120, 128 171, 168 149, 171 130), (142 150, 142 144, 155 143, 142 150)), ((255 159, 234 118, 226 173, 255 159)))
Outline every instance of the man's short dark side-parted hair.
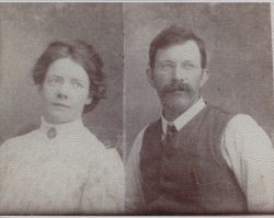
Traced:
POLYGON ((201 66, 203 69, 206 68, 206 51, 204 42, 199 37, 197 37, 192 30, 176 25, 172 25, 164 28, 150 43, 150 48, 149 48, 150 68, 153 69, 155 67, 155 58, 159 49, 167 48, 168 46, 171 45, 183 44, 187 41, 194 41, 197 44, 201 54, 201 66))

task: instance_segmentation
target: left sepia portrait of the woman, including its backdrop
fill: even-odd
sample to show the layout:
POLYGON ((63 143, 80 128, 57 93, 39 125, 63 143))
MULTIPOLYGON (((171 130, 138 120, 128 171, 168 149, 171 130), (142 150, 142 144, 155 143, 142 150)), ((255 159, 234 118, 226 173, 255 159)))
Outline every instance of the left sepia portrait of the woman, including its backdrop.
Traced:
POLYGON ((122 4, 0 10, 0 215, 122 214, 122 4))

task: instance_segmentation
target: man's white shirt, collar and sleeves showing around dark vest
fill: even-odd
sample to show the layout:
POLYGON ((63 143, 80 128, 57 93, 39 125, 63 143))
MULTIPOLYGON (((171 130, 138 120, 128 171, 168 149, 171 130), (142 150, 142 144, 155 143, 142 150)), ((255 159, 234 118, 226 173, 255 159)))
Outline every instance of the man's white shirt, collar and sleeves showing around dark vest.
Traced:
MULTIPOLYGON (((199 99, 172 123, 181 130, 204 107, 205 102, 199 99)), ((161 123, 163 138, 168 126, 163 116, 161 123)), ((126 207, 129 211, 141 208, 144 203, 139 152, 146 128, 135 139, 126 164, 126 207)), ((228 122, 220 149, 247 196, 249 210, 274 211, 274 149, 264 130, 250 116, 238 114, 228 122)))

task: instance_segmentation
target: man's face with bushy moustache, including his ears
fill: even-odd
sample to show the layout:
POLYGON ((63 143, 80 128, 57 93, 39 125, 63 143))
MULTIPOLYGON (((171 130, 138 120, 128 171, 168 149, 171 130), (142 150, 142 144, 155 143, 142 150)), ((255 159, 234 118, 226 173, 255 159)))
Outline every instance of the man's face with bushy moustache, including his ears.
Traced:
POLYGON ((148 73, 163 107, 182 112, 198 100, 208 78, 207 70, 202 69, 199 49, 194 41, 159 49, 155 68, 148 73))

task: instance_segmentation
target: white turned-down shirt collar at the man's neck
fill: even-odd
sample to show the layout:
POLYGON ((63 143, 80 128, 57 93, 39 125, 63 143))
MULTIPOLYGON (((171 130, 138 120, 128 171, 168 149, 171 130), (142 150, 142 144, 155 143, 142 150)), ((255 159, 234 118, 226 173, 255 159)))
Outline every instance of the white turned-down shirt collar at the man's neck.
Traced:
MULTIPOLYGON (((205 102, 202 97, 187 108, 183 114, 176 117, 172 123, 178 131, 180 131, 194 116, 196 116, 204 107, 205 102)), ((165 135, 169 122, 161 115, 162 133, 165 135)))

